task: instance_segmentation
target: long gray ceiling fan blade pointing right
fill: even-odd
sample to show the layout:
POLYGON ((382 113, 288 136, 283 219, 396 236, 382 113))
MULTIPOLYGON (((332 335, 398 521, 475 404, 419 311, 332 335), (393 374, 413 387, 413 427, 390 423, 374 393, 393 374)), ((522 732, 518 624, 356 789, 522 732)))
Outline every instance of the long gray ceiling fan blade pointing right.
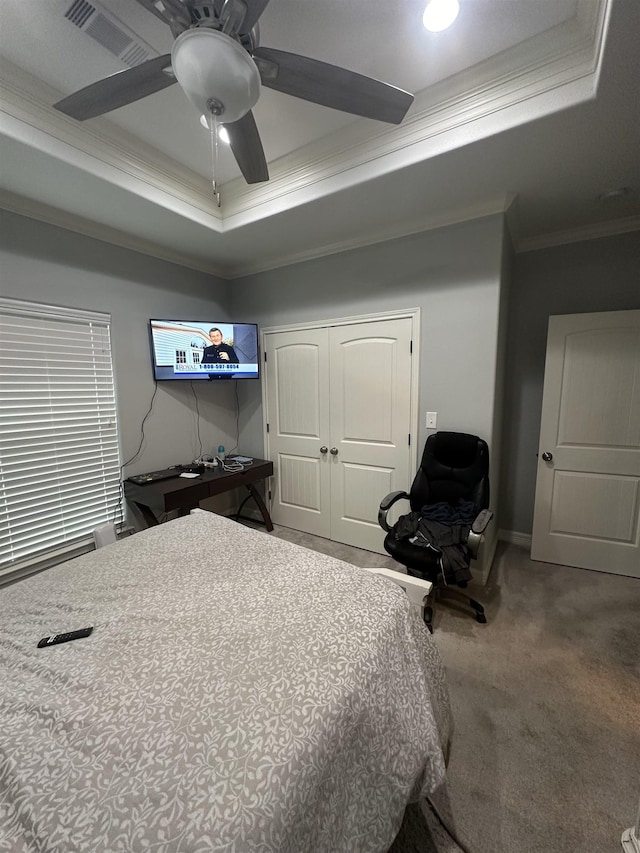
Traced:
POLYGON ((308 56, 258 47, 253 58, 267 88, 334 110, 400 124, 413 103, 409 92, 308 56))

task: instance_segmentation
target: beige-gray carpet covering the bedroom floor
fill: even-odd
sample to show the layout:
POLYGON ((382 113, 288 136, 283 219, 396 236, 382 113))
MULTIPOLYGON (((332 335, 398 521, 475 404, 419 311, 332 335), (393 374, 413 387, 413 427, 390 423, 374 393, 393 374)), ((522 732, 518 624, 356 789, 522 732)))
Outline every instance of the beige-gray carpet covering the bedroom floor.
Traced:
MULTIPOLYGON (((393 561, 297 531, 356 565, 393 561)), ((488 624, 438 605, 455 731, 439 813, 469 853, 620 853, 640 797, 640 580, 500 545, 488 624)), ((459 853, 427 804, 390 853, 459 853)))

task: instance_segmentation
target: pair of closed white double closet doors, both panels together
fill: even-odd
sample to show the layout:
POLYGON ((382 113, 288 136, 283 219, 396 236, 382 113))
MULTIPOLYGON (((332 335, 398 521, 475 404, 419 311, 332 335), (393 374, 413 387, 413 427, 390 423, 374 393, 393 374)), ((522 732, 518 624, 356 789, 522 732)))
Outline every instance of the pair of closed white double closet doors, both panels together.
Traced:
POLYGON ((411 317, 265 334, 271 516, 384 553, 381 499, 408 489, 411 317))

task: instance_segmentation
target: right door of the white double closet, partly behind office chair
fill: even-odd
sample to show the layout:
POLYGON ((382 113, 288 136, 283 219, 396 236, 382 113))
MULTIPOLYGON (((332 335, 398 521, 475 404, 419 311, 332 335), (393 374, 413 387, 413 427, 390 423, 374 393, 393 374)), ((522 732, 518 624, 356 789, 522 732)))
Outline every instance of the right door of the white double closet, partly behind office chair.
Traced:
POLYGON ((411 320, 335 326, 329 346, 331 538, 384 553, 380 501, 411 483, 411 320))

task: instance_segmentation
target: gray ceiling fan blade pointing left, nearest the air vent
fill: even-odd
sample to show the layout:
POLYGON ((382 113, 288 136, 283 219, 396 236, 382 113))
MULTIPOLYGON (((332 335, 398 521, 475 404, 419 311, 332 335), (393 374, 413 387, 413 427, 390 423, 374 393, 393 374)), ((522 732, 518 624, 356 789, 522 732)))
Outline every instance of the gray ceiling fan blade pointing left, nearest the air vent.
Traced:
POLYGON ((71 118, 85 121, 153 95, 175 82, 171 54, 167 53, 85 86, 53 106, 71 118))

